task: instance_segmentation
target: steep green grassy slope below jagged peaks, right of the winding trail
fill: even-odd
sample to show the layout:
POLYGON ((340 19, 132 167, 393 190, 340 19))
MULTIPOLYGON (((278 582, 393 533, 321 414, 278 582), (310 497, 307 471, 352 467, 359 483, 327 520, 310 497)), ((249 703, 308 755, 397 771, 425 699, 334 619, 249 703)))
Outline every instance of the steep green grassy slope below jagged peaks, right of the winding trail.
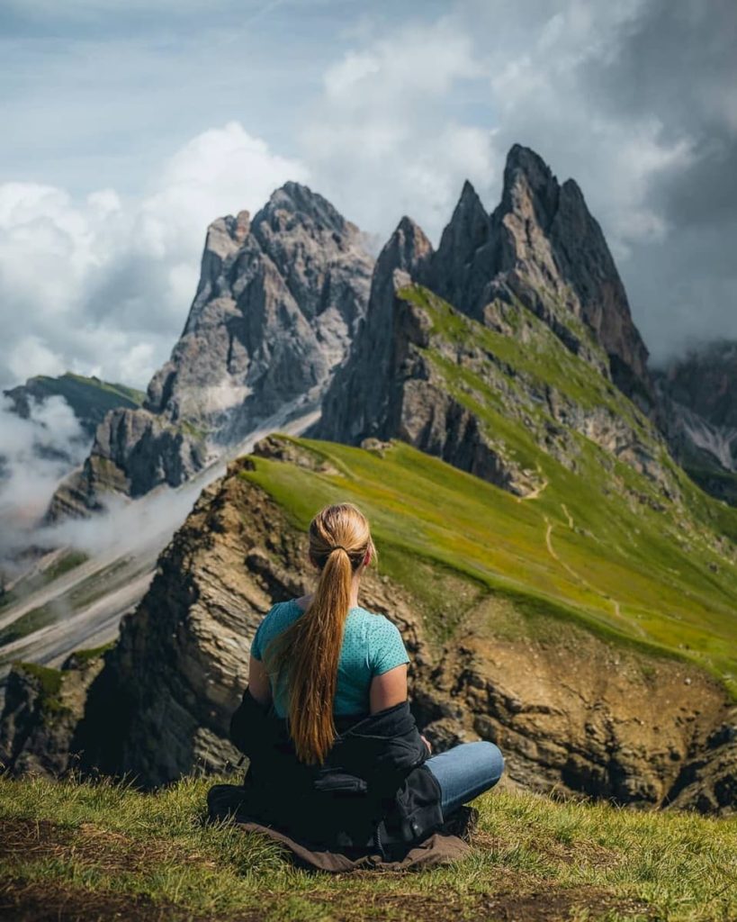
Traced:
MULTIPOLYGON (((576 432, 572 434, 579 469, 572 473, 542 451, 532 435, 533 427, 553 422, 544 407, 531 406, 528 399, 526 419, 516 419, 498 389, 473 371, 452 364, 433 348, 436 340, 427 349, 450 393, 482 420, 489 437, 522 465, 537 469, 547 482, 535 505, 548 516, 554 550, 581 576, 581 585, 588 582, 603 597, 617 599, 622 616, 617 621, 629 621, 640 635, 644 632, 665 644, 687 644, 710 658, 721 659, 729 652, 723 643, 707 641, 706 635, 714 632, 726 638, 728 646, 734 640, 734 624, 725 624, 725 618, 733 622, 734 549, 731 559, 715 552, 714 537, 723 536, 725 544, 737 542, 737 510, 699 490, 663 450, 638 408, 569 352, 530 312, 499 305, 509 325, 516 327, 514 336, 505 336, 455 311, 425 289, 412 286, 401 295, 429 314, 436 340, 455 346, 473 343, 497 363, 507 363, 512 373, 504 383, 512 389, 520 390, 519 378, 523 376, 528 392, 531 385, 538 392, 551 385, 580 407, 607 408, 626 420, 680 491, 679 502, 664 498, 657 483, 576 432), (520 338, 521 324, 527 327, 525 342, 520 338), (633 502, 633 493, 646 502, 633 502), (561 542, 563 552, 559 550, 561 542), (605 549, 594 548, 595 543, 605 549), (654 582, 650 580, 653 566, 660 575, 654 582), (633 576, 636 581, 627 586, 630 591, 625 608, 619 587, 633 576)), ((497 376, 499 373, 495 369, 497 376)), ((610 605, 614 609, 614 601, 610 605)), ((731 663, 722 660, 719 668, 731 675, 731 663)))

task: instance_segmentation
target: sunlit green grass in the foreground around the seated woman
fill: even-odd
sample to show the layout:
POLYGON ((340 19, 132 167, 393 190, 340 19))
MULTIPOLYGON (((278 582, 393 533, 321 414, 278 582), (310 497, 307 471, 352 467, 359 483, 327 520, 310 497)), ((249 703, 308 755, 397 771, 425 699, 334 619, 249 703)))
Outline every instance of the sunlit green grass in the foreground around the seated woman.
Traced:
POLYGON ((733 821, 497 790, 474 802, 473 853, 455 865, 331 876, 295 869, 259 834, 203 824, 212 783, 144 794, 0 778, 0 916, 737 918, 733 821))

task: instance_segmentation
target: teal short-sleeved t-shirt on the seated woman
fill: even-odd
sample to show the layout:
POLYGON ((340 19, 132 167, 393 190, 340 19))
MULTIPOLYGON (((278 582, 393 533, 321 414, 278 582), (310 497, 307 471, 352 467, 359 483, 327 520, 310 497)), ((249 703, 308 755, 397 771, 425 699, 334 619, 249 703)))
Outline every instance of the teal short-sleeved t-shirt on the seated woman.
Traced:
MULTIPOLYGON (((296 599, 277 602, 264 617, 253 636, 251 655, 263 659, 266 646, 302 614, 296 599)), ((338 660, 338 679, 333 714, 368 714, 369 686, 374 676, 409 663, 402 634, 383 615, 374 615, 360 606, 348 610, 343 645, 338 660)), ((275 690, 275 676, 270 675, 276 714, 287 714, 287 696, 283 682, 275 690)))

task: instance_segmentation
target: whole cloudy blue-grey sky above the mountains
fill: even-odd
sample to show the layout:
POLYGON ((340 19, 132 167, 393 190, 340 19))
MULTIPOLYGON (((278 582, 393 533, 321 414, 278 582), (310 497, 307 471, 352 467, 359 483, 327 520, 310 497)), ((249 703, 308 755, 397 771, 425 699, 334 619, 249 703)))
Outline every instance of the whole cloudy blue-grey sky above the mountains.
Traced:
POLYGON ((737 338, 733 0, 3 0, 0 386, 142 388, 207 224, 287 180, 434 242, 507 151, 572 176, 653 364, 737 338))

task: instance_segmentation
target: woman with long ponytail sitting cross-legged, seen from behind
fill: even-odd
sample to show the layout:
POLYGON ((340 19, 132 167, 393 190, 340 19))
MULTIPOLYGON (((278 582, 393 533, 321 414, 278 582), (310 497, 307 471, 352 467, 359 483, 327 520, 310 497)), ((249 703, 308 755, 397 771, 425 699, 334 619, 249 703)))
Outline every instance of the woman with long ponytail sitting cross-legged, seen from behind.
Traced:
POLYGON ((326 506, 309 536, 317 588, 263 619, 231 721, 251 758, 245 805, 312 842, 383 852, 421 840, 494 786, 504 760, 490 742, 430 757, 409 711, 402 636, 358 605, 376 559, 365 515, 326 506))

